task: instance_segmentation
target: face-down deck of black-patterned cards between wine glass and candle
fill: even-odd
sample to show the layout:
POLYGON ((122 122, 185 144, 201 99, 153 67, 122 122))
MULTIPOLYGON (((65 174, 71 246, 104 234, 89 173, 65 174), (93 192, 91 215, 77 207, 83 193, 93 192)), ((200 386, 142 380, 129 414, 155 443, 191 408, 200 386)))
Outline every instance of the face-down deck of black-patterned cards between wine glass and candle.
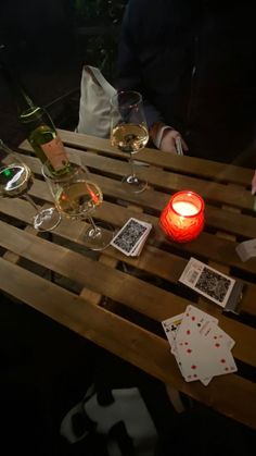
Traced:
POLYGON ((135 254, 139 244, 144 239, 144 236, 149 234, 150 229, 151 225, 149 223, 131 218, 115 235, 111 245, 123 254, 130 256, 132 252, 135 254))

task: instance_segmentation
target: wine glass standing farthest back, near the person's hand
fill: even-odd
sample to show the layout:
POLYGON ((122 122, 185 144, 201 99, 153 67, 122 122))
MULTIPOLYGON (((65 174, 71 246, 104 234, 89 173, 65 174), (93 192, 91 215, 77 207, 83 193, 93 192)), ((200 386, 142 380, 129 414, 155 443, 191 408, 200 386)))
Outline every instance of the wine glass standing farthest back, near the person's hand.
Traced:
POLYGON ((111 143, 129 153, 130 174, 123 178, 127 188, 140 193, 148 183, 136 175, 133 153, 145 147, 149 140, 142 96, 138 91, 118 91, 111 98, 111 143))

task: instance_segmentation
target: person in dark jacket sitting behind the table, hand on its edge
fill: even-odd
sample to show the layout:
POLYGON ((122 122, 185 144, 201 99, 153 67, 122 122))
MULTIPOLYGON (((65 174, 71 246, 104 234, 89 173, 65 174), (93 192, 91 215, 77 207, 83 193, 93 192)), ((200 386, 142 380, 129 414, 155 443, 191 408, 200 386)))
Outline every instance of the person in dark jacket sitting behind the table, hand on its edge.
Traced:
POLYGON ((176 152, 256 164, 254 2, 129 0, 118 89, 142 94, 150 135, 176 152))

